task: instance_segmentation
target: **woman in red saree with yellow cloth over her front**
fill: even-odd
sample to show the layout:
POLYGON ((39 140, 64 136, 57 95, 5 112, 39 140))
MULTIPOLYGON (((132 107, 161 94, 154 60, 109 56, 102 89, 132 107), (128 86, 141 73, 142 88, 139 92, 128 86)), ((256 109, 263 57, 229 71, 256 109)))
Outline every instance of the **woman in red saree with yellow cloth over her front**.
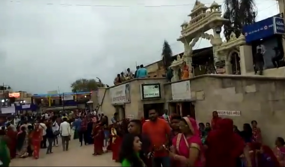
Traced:
POLYGON ((120 124, 113 124, 113 128, 111 129, 111 137, 113 153, 112 159, 119 162, 120 146, 123 141, 122 127, 120 124))

